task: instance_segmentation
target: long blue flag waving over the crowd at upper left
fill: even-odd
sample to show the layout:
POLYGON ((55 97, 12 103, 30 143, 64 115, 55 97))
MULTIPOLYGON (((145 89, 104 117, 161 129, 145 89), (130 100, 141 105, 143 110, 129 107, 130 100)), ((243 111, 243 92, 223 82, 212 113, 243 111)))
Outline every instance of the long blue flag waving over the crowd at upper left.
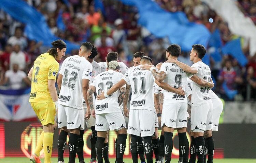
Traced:
MULTIPOLYGON (((42 41, 43 45, 48 47, 52 46, 52 41, 60 39, 51 32, 45 17, 23 0, 0 0, 0 8, 17 21, 26 24, 25 33, 29 39, 37 42, 42 41)), ((73 49, 80 48, 78 44, 64 41, 67 44, 68 53, 73 49)))

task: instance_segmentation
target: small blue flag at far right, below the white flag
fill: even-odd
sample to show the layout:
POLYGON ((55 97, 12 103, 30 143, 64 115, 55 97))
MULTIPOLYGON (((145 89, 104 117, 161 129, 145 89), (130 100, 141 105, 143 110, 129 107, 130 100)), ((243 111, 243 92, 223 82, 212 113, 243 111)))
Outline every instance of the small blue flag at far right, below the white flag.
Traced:
POLYGON ((241 66, 245 66, 248 62, 242 51, 240 38, 227 42, 222 48, 222 52, 225 55, 230 54, 236 58, 241 66))

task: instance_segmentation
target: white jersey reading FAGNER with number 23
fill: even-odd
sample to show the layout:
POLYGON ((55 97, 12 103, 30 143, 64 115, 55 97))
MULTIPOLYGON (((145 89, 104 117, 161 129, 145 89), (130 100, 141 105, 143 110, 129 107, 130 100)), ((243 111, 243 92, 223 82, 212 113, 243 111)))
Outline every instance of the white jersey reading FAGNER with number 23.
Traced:
MULTIPOLYGON (((113 85, 118 83, 123 76, 124 75, 119 72, 108 70, 97 75, 94 78, 93 83, 91 83, 91 86, 96 87, 96 93, 97 95, 99 95, 101 94, 101 91, 103 92, 108 91, 113 85)), ((123 87, 125 87, 125 85, 123 87)), ((120 110, 119 104, 117 102, 118 96, 119 96, 119 91, 116 91, 105 99, 102 99, 102 100, 96 99, 95 113, 96 114, 116 113, 116 112, 121 113, 122 111, 120 110)))

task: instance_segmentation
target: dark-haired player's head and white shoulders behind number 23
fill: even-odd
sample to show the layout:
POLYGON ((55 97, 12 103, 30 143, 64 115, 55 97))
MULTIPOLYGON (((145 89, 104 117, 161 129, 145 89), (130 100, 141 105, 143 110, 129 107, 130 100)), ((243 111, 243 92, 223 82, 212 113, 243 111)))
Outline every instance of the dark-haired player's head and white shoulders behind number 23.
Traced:
MULTIPOLYGON (((101 72, 107 71, 106 68, 108 67, 108 64, 112 60, 118 60, 118 53, 117 52, 109 52, 106 56, 105 62, 99 62, 99 65, 101 67, 101 72)), ((128 67, 124 64, 124 62, 118 62, 120 69, 119 72, 122 74, 125 74, 125 72, 128 70, 128 67)))

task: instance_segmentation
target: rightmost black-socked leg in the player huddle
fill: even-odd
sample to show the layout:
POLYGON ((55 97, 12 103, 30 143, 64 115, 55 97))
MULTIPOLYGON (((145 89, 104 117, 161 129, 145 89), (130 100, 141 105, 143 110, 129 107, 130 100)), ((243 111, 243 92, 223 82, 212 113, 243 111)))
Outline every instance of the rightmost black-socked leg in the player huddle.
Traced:
MULTIPOLYGON (((212 137, 212 130, 204 131, 204 141, 206 147, 206 154, 208 155, 207 163, 212 163, 214 154, 214 140, 212 137)), ((204 156, 204 162, 206 162, 206 155, 204 156)))

